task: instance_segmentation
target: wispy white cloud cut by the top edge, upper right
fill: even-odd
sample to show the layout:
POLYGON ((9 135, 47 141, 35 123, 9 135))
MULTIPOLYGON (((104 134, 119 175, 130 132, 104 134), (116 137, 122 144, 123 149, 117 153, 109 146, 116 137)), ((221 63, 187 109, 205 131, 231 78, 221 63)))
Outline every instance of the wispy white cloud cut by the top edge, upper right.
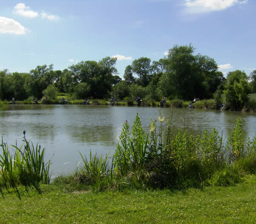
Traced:
POLYGON ((190 13, 221 11, 236 4, 245 4, 248 0, 185 0, 184 5, 190 13))

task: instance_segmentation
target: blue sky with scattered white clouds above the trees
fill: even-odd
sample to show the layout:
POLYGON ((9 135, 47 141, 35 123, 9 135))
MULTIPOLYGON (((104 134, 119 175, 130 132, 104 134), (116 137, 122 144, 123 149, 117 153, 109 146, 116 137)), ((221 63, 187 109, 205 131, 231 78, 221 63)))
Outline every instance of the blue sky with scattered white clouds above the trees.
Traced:
POLYGON ((175 44, 215 59, 219 71, 256 69, 256 0, 0 0, 0 71, 80 61, 166 57, 175 44))

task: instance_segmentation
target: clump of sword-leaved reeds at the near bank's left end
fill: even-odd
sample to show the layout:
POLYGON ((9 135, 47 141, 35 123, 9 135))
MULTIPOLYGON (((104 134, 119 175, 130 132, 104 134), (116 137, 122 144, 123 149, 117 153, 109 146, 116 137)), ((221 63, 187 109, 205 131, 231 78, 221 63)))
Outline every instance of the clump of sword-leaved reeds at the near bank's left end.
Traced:
MULTIPOLYGON (((45 162, 45 149, 41 149, 40 145, 29 143, 25 138, 25 131, 23 132, 24 144, 15 149, 11 153, 9 147, 3 142, 2 153, 0 155, 0 190, 2 188, 15 188, 18 185, 23 185, 28 190, 31 186, 35 187, 38 192, 41 192, 39 183, 49 184, 49 166, 50 161, 45 162)), ((17 192, 18 193, 18 192, 17 192)))

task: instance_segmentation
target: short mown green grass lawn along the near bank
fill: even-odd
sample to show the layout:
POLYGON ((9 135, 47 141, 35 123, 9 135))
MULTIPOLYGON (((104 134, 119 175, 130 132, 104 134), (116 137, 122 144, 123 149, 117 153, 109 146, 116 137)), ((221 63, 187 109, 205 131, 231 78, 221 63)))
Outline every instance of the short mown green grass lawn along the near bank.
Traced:
POLYGON ((232 187, 87 192, 44 185, 0 198, 0 223, 255 223, 256 177, 232 187))

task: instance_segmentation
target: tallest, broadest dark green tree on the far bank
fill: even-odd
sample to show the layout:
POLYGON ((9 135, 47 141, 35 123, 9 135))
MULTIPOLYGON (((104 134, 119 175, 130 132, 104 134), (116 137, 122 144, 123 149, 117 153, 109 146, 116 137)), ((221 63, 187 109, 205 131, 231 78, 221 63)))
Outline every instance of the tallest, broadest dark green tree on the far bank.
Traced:
POLYGON ((169 55, 163 59, 163 75, 159 80, 159 90, 170 98, 191 100, 210 98, 218 85, 223 81, 223 75, 218 72, 214 59, 205 55, 194 55, 192 44, 175 45, 169 50, 169 55))

